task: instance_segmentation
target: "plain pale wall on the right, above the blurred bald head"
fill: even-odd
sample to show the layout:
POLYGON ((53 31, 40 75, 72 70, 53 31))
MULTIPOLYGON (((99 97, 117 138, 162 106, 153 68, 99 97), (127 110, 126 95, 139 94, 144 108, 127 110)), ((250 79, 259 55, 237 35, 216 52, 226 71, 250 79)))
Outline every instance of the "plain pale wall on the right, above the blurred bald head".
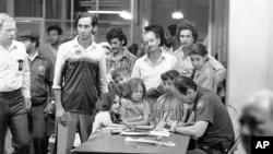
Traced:
POLYGON ((229 0, 227 102, 237 133, 247 98, 258 90, 273 90, 271 14, 272 0, 229 0))

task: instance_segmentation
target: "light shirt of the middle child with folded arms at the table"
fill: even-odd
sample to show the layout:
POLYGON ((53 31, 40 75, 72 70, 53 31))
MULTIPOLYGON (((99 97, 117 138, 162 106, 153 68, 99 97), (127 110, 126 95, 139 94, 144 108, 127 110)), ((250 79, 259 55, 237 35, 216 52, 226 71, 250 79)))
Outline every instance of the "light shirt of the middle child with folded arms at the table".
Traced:
POLYGON ((130 119, 140 116, 151 116, 147 102, 133 103, 130 99, 122 99, 120 107, 121 119, 130 119))

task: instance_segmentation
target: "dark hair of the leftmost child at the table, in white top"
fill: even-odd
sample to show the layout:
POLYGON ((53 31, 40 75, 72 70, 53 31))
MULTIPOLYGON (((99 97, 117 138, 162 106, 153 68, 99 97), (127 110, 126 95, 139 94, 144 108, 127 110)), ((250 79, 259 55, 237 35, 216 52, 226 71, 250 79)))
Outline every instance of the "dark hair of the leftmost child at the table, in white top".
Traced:
POLYGON ((116 96, 115 93, 104 93, 96 103, 96 110, 109 110, 111 105, 115 104, 116 96))

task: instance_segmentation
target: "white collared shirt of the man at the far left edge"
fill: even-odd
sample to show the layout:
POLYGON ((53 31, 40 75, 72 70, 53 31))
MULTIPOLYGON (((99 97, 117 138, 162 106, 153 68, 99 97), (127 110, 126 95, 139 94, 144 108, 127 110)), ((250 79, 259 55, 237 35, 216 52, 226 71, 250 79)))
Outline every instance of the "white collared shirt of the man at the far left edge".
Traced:
POLYGON ((25 46, 12 40, 9 49, 0 46, 0 92, 22 88, 25 97, 31 98, 31 73, 25 46))

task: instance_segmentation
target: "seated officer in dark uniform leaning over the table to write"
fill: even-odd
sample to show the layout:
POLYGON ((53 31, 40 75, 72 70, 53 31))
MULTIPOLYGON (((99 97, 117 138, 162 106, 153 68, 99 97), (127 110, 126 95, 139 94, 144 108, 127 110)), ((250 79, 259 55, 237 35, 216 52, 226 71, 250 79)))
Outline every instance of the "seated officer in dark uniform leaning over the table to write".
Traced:
POLYGON ((194 125, 171 126, 171 131, 198 139, 197 146, 188 154, 225 154, 233 146, 235 137, 230 117, 221 98, 182 75, 174 80, 171 93, 182 103, 193 106, 194 125))

